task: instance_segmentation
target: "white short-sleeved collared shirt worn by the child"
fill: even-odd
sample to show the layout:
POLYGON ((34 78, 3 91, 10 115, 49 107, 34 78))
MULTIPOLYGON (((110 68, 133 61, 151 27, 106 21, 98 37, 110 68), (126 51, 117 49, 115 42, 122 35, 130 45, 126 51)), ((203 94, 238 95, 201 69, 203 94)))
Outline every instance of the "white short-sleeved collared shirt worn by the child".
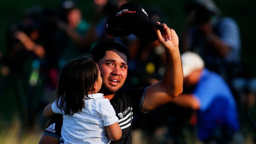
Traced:
POLYGON ((54 113, 63 114, 62 138, 64 144, 109 144, 105 126, 118 121, 116 113, 103 94, 89 94, 91 99, 85 99, 82 111, 72 116, 63 114, 56 105, 52 104, 54 113))

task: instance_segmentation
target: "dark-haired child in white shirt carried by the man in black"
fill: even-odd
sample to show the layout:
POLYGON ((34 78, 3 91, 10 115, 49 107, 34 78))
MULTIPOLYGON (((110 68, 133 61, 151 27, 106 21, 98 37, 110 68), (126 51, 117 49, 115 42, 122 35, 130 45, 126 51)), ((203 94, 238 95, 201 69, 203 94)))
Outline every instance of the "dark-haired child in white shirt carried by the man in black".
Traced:
POLYGON ((57 87, 57 99, 45 107, 47 118, 63 114, 61 143, 109 144, 121 138, 118 118, 108 99, 99 92, 102 85, 96 62, 82 57, 64 66, 57 87))

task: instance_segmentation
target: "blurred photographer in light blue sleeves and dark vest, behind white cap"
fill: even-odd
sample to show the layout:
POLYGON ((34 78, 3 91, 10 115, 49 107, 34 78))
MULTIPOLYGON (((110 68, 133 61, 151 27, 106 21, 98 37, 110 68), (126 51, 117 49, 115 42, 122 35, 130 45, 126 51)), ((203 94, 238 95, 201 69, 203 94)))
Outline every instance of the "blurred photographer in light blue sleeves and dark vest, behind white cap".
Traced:
POLYGON ((182 40, 182 52, 199 54, 205 66, 229 81, 229 68, 240 62, 240 34, 237 23, 222 17, 212 0, 193 0, 185 5, 187 27, 182 40))

